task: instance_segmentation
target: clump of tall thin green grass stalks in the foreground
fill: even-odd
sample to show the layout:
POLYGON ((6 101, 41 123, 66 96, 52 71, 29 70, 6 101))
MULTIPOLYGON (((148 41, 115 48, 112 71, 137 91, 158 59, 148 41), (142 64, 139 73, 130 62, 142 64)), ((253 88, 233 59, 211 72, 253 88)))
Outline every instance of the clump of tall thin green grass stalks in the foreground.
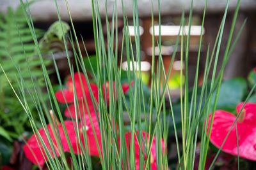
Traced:
MULTIPOLYGON (((86 101, 86 97, 84 94, 84 106, 83 111, 79 110, 78 100, 76 96, 76 89, 75 84, 73 83, 74 88, 74 99, 75 99, 75 108, 76 108, 76 118, 74 120, 74 127, 76 130, 77 136, 77 143, 81 148, 81 154, 76 155, 75 150, 72 148, 70 139, 68 138, 67 129, 64 126, 64 117, 61 113, 58 101, 54 96, 54 90, 52 87, 52 83, 49 78, 49 73, 47 68, 44 64, 44 58, 42 53, 40 52, 40 48, 38 46, 38 40, 36 39, 36 32, 35 27, 32 22, 31 13, 29 8, 26 8, 23 4, 23 1, 20 0, 22 4, 22 8, 26 13, 26 19, 28 21, 29 29, 31 34, 33 35, 33 40, 36 45, 36 52, 38 53, 38 57, 40 57, 42 63, 42 71, 44 73, 45 84, 47 85, 47 94, 48 94, 48 103, 44 103, 42 100, 42 90, 38 90, 34 83, 33 77, 31 77, 31 83, 34 86, 35 93, 34 96, 31 95, 31 99, 33 99, 36 110, 38 110, 38 115, 40 115, 40 122, 41 126, 44 128, 45 134, 47 134, 47 141, 51 146, 51 150, 54 151, 55 147, 58 147, 58 152, 53 152, 54 157, 56 155, 60 155, 60 159, 54 159, 51 153, 49 152, 49 148, 45 145, 45 141, 41 138, 38 133, 38 127, 35 124, 35 120, 33 115, 31 115, 30 108, 28 108, 27 99, 25 94, 28 93, 28 90, 22 83, 22 76, 17 78, 19 82, 19 89, 14 89, 12 87, 12 82, 9 81, 7 74, 6 78, 10 83, 11 87, 13 88, 13 92, 17 96, 17 99, 20 101, 22 108, 27 113, 29 117, 29 122, 31 123, 32 131, 35 134, 38 134, 40 137, 37 141, 38 143, 42 143, 44 152, 45 152, 45 159, 49 160, 46 162, 46 166, 49 169, 92 169, 92 157, 90 157, 90 153, 88 152, 88 148, 84 148, 83 142, 86 143, 88 139, 84 138, 84 141, 81 141, 79 137, 79 119, 78 117, 83 117, 83 115, 78 115, 79 113, 84 113, 84 111, 88 111, 88 103, 86 101), (53 118, 49 115, 49 110, 54 110, 55 115, 53 118), (56 138, 57 146, 52 142, 52 139, 49 135, 49 129, 47 129, 47 122, 51 124, 52 127, 57 124, 58 120, 60 120, 60 124, 63 125, 63 129, 65 132, 65 136, 68 141, 68 146, 70 149, 70 157, 72 160, 72 167, 68 165, 68 160, 65 157, 65 152, 63 150, 63 146, 61 145, 60 140, 60 133, 54 131, 54 136, 56 138)), ((216 35, 216 41, 212 46, 212 50, 210 50, 211 45, 207 45, 207 54, 206 54, 206 61, 205 61, 205 69, 203 74, 203 81, 202 81, 202 90, 200 90, 200 97, 197 98, 199 90, 198 90, 198 76, 199 76, 199 67, 200 67, 200 58, 202 52, 202 39, 203 39, 203 30, 201 30, 200 41, 198 43, 198 55, 196 59, 196 71, 195 71, 195 81, 192 87, 192 94, 189 94, 189 76, 191 73, 188 71, 189 67, 189 47, 190 47, 190 29, 193 17, 193 1, 191 1, 190 10, 189 10, 189 18, 188 18, 188 32, 185 32, 184 26, 186 23, 186 18, 184 12, 182 12, 180 17, 180 30, 179 34, 181 36, 177 36, 175 41, 174 50, 172 53, 171 63, 168 70, 164 68, 164 61, 163 56, 161 54, 161 27, 159 27, 159 37, 156 38, 154 24, 156 22, 154 13, 154 8, 158 10, 158 23, 159 26, 161 25, 161 1, 157 1, 157 6, 154 6, 154 1, 152 1, 152 9, 151 9, 151 20, 152 20, 152 28, 153 28, 153 35, 152 35, 152 70, 150 73, 151 81, 150 81, 150 98, 147 101, 145 99, 145 94, 143 91, 143 82, 142 82, 142 75, 141 75, 141 39, 140 39, 140 23, 139 23, 139 11, 138 11, 138 1, 132 0, 132 24, 134 25, 134 43, 135 48, 132 47, 132 39, 129 35, 128 27, 128 19, 127 14, 125 13, 125 7, 123 0, 122 3, 122 12, 123 12, 123 22, 124 22, 124 33, 122 35, 122 40, 118 39, 118 14, 117 14, 117 2, 113 3, 113 8, 108 9, 107 1, 105 4, 106 13, 108 11, 112 12, 112 15, 109 17, 107 14, 105 16, 105 20, 102 20, 99 2, 97 0, 92 0, 92 23, 93 23, 93 35, 95 40, 95 54, 97 59, 97 71, 93 71, 93 80, 97 84, 98 87, 102 87, 104 82, 109 82, 109 106, 107 106, 106 99, 104 99, 104 92, 101 88, 99 88, 99 103, 96 103, 92 89, 90 89, 90 96, 93 98, 93 106, 94 109, 99 111, 99 117, 97 118, 99 127, 100 127, 100 136, 101 141, 97 139, 97 135, 95 129, 93 127, 93 134, 94 138, 97 141, 97 149, 100 153, 100 164, 102 169, 135 169, 135 159, 136 155, 135 152, 140 152, 140 169, 150 169, 150 160, 152 157, 151 148, 154 140, 154 136, 156 136, 156 155, 157 155, 157 167, 158 169, 167 169, 170 166, 170 162, 168 162, 168 153, 167 150, 163 150, 163 146, 161 143, 161 138, 164 139, 165 145, 168 146, 168 132, 172 131, 175 134, 175 141, 177 143, 177 169, 194 169, 195 166, 195 155, 196 155, 196 144, 200 140, 200 160, 199 160, 199 167, 198 169, 205 169, 205 162, 207 159, 208 148, 209 148, 209 136, 211 132, 213 116, 211 119, 211 125, 209 128, 209 132, 207 132, 207 127, 204 126, 204 120, 208 122, 209 113, 216 110, 216 103, 218 101, 218 94, 220 92, 220 85, 221 80, 223 77, 223 71, 225 65, 228 62, 228 59, 232 55, 232 51, 234 50, 234 46, 239 39, 241 31, 243 30, 244 24, 241 26, 240 31, 234 36, 234 28, 236 25, 237 15, 239 11, 240 1, 237 2, 237 8, 234 13, 234 18, 232 20, 232 27, 230 28, 230 34, 228 36, 228 43, 225 47, 225 54, 223 57, 223 61, 220 62, 220 48, 222 43, 223 31, 225 29, 225 20, 227 18, 228 12, 228 4, 229 0, 227 0, 226 8, 223 14, 223 19, 220 25, 220 29, 218 34, 216 35), (111 22, 109 22, 111 20, 111 22), (106 22, 106 36, 104 36, 102 23, 106 22), (110 24, 111 23, 111 24, 110 24), (232 41, 234 39, 234 41, 232 41), (118 44, 121 44, 121 49, 118 51, 118 44), (179 141, 178 136, 179 132, 177 131, 177 124, 175 120, 175 116, 178 113, 174 113, 173 111, 173 103, 172 103, 172 96, 170 95, 170 89, 168 87, 168 80, 170 78, 170 74, 172 73, 172 65, 174 60, 179 57, 177 56, 177 50, 179 49, 180 44, 180 67, 184 67, 184 71, 181 69, 180 71, 180 82, 185 82, 185 85, 180 85, 180 110, 181 110, 181 134, 182 134, 182 141, 179 141), (158 63, 156 63, 156 54, 155 54, 155 46, 159 47, 159 58, 158 63), (134 52, 135 50, 135 52, 134 52), (120 54, 120 55, 119 55, 120 54), (122 82, 121 82, 121 68, 120 65, 124 60, 124 55, 126 56, 126 60, 128 62, 128 71, 125 72, 127 76, 127 82, 129 83, 130 89, 128 96, 129 100, 125 100, 125 94, 122 92, 122 82), (120 62, 118 62, 120 59, 120 62), (134 66, 134 62, 138 62, 138 66, 134 66), (130 66, 129 63, 132 63, 130 66), (217 72, 218 63, 221 63, 221 69, 217 72), (136 70, 137 69, 137 70, 136 70), (184 76, 183 76, 184 75, 184 76), (212 75, 212 76, 211 76, 212 75), (137 77, 137 78, 136 78, 137 77), (132 81, 134 83, 132 87, 132 81), (115 82, 115 84, 113 83, 115 82), (210 85, 210 86, 209 86, 210 85), (213 94, 216 92, 216 97, 214 98, 213 94), (117 101, 115 101, 117 97, 117 101), (170 109, 166 108, 166 97, 168 101, 170 101, 170 109), (189 103, 189 98, 191 98, 191 103, 189 103), (211 103, 214 103, 212 107, 211 103), (149 107, 147 108, 147 106, 149 107), (125 129, 124 124, 124 113, 127 113, 129 117, 129 124, 130 129, 129 131, 131 134, 131 143, 129 148, 125 143, 125 129), (173 121, 173 129, 169 129, 168 125, 170 124, 170 120, 172 118, 173 121), (143 122, 145 123, 145 128, 143 129, 143 122), (199 129, 202 127, 202 130, 199 129), (142 131, 148 132, 148 138, 143 139, 142 131), (118 138, 119 136, 119 138, 118 138), (134 141, 137 141, 140 145, 140 151, 134 150, 134 141), (102 152, 100 152, 100 145, 102 143, 102 152), (182 147, 180 148, 179 143, 182 143, 182 147), (147 156, 145 159, 145 155, 147 156)), ((58 19, 61 22, 61 15, 60 10, 58 7, 58 1, 54 1, 56 6, 56 12, 58 13, 58 19)), ((72 21, 72 14, 70 12, 68 1, 65 0, 65 4, 67 6, 68 15, 70 17, 71 29, 74 34, 70 34, 68 39, 71 43, 71 46, 74 50, 74 58, 75 64, 71 64, 70 56, 68 55, 68 47, 67 47, 67 40, 65 36, 63 36, 63 41, 65 44, 65 51, 67 53, 67 60, 68 60, 68 68, 70 74, 72 75, 72 80, 74 81, 74 70, 78 70, 82 72, 86 76, 86 82, 89 83, 90 78, 87 74, 87 69, 92 69, 92 64, 90 64, 91 68, 84 66, 82 50, 86 51, 85 45, 83 46, 84 49, 79 47, 79 39, 77 38, 76 28, 74 27, 74 23, 72 21), (76 51, 77 47, 77 51, 76 51)), ((84 4, 85 5, 85 4, 84 4)), ((204 27, 205 22, 205 15, 207 11, 207 0, 205 0, 205 8, 204 13, 202 15, 202 24, 201 26, 204 27)), ((61 26, 63 31, 63 27, 61 26)), ((64 35, 64 34, 63 34, 64 35)), ((86 39, 81 38, 84 44, 86 39)), ((87 51, 86 51, 87 52, 87 51)), ((52 54, 53 56, 53 54, 52 54)), ((12 57, 12 56, 10 56, 12 57)), ((58 71, 58 67, 56 64, 56 60, 53 59, 54 67, 56 69, 56 74, 58 78, 58 82, 60 83, 60 87, 63 90, 63 83, 61 82, 60 73, 58 71)), ((3 69, 2 65, 0 64, 1 69, 3 69)), ((4 70, 3 70, 4 71, 4 70)), ((17 66, 17 72, 19 73, 19 66, 17 66)), ((81 79, 81 78, 80 78, 81 79)), ((81 81, 81 80, 80 80, 81 81)), ((81 82, 81 86, 83 87, 83 83, 81 82)), ((255 88, 255 87, 254 87, 255 88)), ((83 92, 84 93, 84 92, 83 92)), ((66 105, 68 106, 67 102, 66 105)), ((239 115, 237 115, 238 117, 239 115)), ((92 124, 92 117, 89 113, 90 123, 92 124)), ((93 124, 92 124, 93 125, 93 124)), ((84 136, 86 134, 84 133, 84 136)), ((227 139, 227 138, 226 138, 227 139)), ((77 148, 78 150, 78 148, 77 148)), ((43 150, 42 150, 43 152, 43 150)), ((172 152, 172 151, 171 151, 172 152)), ((212 162, 210 169, 214 166, 214 162, 218 157, 217 153, 215 159, 212 162)), ((239 166, 239 165, 238 165, 239 166)))

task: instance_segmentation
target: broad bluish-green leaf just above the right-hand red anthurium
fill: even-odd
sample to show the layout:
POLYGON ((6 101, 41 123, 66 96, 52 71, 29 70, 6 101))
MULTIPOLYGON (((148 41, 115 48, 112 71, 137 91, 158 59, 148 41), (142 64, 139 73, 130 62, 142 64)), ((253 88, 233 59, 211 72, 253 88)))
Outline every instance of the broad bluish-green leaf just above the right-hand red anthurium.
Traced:
MULTIPOLYGON (((220 95, 218 96, 217 109, 233 111, 236 105, 243 101, 246 94, 246 80, 244 78, 234 78, 221 83, 220 95)), ((216 93, 212 96, 212 106, 216 93)))

